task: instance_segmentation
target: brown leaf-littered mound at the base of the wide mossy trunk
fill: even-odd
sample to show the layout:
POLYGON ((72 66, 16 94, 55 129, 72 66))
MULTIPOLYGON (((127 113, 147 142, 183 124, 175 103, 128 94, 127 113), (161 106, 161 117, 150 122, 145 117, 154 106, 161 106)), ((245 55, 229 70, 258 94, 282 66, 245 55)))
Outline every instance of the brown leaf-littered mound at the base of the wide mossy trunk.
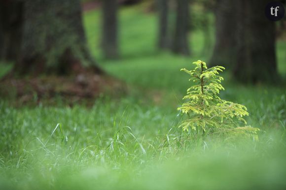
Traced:
POLYGON ((55 103, 55 98, 73 105, 92 101, 107 94, 118 97, 127 93, 127 85, 108 75, 81 73, 74 76, 41 76, 4 78, 0 81, 0 95, 9 97, 14 105, 46 102, 55 103))

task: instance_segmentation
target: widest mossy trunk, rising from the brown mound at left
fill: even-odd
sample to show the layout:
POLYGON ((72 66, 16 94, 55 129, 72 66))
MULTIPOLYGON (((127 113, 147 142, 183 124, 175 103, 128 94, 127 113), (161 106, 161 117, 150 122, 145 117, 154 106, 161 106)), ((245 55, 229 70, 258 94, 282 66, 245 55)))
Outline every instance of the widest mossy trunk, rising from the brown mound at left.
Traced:
POLYGON ((71 74, 90 66, 79 0, 25 0, 18 74, 71 74))

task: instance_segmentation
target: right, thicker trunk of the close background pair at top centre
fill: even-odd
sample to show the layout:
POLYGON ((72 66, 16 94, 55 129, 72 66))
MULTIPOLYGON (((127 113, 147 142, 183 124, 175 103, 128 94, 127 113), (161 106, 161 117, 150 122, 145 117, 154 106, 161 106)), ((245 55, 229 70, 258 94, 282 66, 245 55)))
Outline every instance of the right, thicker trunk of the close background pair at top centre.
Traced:
POLYGON ((189 55, 189 0, 177 0, 176 29, 172 50, 174 53, 189 55))

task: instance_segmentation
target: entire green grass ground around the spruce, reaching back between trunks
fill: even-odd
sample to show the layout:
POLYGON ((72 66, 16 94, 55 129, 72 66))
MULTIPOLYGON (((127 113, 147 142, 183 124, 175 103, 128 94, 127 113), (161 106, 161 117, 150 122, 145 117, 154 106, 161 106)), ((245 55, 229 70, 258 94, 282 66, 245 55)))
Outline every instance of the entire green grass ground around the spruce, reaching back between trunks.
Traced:
MULTIPOLYGON (((140 6, 122 9, 121 59, 110 61, 100 51, 99 11, 84 14, 93 55, 132 87, 128 95, 102 95, 91 107, 0 101, 0 190, 286 188, 286 87, 242 85, 226 71, 220 96, 248 107, 259 140, 182 132, 177 107, 190 83, 179 69, 210 53, 201 53, 199 31, 190 58, 158 52, 155 18, 140 6)), ((285 52, 278 41, 284 78, 285 52)))

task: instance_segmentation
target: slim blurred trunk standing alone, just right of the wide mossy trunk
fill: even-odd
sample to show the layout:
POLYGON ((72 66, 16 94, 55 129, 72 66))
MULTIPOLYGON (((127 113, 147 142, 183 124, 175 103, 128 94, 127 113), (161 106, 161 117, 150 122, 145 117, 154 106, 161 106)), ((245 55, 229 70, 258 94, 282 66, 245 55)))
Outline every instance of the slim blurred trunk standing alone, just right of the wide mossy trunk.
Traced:
POLYGON ((118 57, 117 0, 103 0, 103 53, 106 58, 118 57))

